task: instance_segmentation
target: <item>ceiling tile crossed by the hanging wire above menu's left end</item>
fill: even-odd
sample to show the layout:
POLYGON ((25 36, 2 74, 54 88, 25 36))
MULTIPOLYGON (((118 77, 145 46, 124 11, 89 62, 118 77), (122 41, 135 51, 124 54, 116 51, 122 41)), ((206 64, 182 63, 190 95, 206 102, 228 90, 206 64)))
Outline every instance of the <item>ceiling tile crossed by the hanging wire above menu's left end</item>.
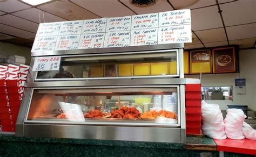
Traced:
MULTIPOLYGON (((16 15, 18 17, 22 17, 22 18, 31 20, 33 22, 39 23, 39 12, 38 12, 38 9, 36 9, 36 8, 26 9, 26 10, 22 10, 22 11, 12 13, 12 14, 16 15)), ((40 19, 41 19, 41 23, 43 23, 43 21, 45 23, 65 21, 65 19, 57 17, 57 16, 52 15, 52 14, 47 13, 47 12, 44 12, 44 18, 43 18, 43 11, 42 10, 40 11, 40 19)))

